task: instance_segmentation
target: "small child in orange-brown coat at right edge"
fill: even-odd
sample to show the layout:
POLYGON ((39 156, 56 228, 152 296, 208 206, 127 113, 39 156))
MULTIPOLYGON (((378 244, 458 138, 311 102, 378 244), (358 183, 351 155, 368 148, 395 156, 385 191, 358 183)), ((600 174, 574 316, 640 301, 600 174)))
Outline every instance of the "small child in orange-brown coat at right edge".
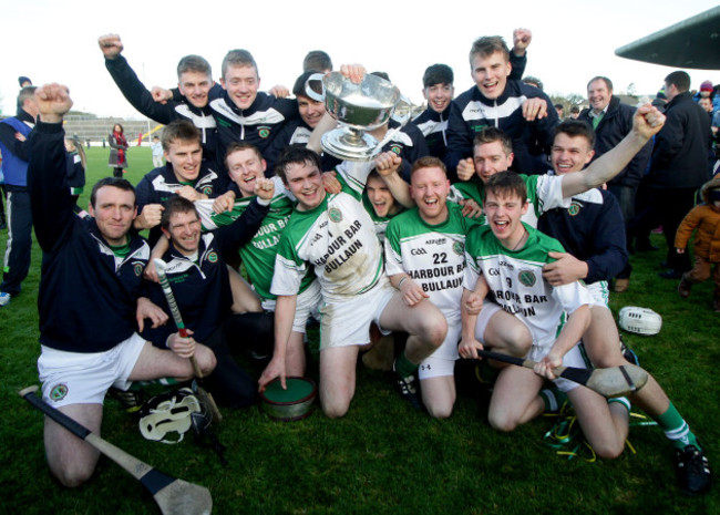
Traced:
POLYGON ((695 229, 695 267, 682 275, 678 285, 680 297, 690 296, 692 285, 710 277, 714 281, 712 309, 720 312, 720 176, 702 185, 701 196, 704 204, 690 209, 678 227, 675 247, 683 254, 695 229))

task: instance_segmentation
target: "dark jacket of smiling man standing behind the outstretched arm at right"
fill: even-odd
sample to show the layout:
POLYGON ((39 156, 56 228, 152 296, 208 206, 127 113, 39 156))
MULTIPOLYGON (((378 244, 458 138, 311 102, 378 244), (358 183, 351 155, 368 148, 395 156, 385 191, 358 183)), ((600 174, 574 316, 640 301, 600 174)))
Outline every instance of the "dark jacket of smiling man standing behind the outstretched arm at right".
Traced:
MULTIPOLYGON (((593 157, 593 161, 613 150, 618 143, 620 143, 620 140, 632 131, 632 117, 635 116, 635 111, 636 109, 631 105, 620 103, 620 99, 617 96, 610 99, 607 112, 595 128, 595 156, 593 157)), ((577 119, 593 125, 593 119, 589 113, 590 110, 585 109, 577 119)), ((648 142, 640 152, 632 157, 632 161, 628 163, 623 172, 616 175, 609 184, 637 187, 645 175, 648 162, 650 161, 651 151, 652 142, 648 142)))

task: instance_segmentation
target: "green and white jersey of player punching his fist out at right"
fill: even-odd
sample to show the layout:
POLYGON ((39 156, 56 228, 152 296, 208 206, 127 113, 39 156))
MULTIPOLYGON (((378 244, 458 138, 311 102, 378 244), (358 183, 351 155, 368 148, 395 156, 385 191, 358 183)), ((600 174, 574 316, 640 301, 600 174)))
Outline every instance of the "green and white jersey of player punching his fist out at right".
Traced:
MULTIPOLYGON (((563 177, 558 175, 524 175, 520 174, 525 181, 527 187, 527 200, 529 209, 523 215, 522 220, 531 227, 537 227, 537 220, 541 215, 556 207, 569 207, 570 198, 563 198, 563 177)), ((472 198, 481 206, 483 205, 483 195, 485 184, 477 177, 473 176, 466 183, 455 183, 452 185, 451 200, 456 202, 460 198, 472 198)))

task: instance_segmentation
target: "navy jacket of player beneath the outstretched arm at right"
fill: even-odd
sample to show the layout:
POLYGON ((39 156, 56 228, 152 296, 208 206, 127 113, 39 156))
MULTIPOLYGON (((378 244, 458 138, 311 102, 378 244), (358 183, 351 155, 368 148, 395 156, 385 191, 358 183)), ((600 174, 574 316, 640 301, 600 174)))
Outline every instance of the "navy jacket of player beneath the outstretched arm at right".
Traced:
POLYGON ((544 213, 537 228, 557 239, 577 259, 587 262, 584 281, 588 285, 610 280, 627 264, 623 213, 615 196, 605 189, 582 193, 573 197, 569 208, 544 213))

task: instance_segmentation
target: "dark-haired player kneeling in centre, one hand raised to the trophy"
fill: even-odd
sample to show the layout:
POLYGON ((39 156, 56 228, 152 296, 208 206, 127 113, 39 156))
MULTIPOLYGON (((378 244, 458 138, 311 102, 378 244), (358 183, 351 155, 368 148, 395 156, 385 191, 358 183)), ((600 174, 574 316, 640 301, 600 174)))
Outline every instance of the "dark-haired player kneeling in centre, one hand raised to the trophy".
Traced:
MULTIPOLYGON (((344 69, 361 79, 364 70, 344 69)), ((378 163, 378 161, 376 161, 378 163)), ((260 378, 260 388, 279 377, 285 380, 285 349, 292 326, 300 281, 312 270, 319 280, 323 306, 320 329, 320 402, 330 418, 347 413, 354 395, 358 351, 369 343, 370 323, 381 331, 410 334, 394 370, 403 398, 420 408, 415 390, 418 364, 443 341, 448 325, 430 302, 409 307, 384 274, 382 247, 361 196, 374 164, 343 162, 338 166, 339 194, 326 194, 319 156, 290 147, 277 173, 298 199, 282 233, 272 277, 277 295, 276 350, 260 378)), ((395 165, 397 167, 397 165, 395 165)))

